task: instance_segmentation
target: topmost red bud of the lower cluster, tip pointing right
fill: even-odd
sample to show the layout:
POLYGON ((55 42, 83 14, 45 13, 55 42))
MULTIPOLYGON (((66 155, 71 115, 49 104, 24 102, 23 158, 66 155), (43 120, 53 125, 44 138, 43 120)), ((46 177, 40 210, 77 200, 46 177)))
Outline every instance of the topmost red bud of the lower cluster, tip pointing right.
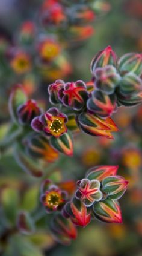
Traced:
POLYGON ((108 176, 114 176, 117 173, 119 166, 101 165, 91 168, 86 175, 88 180, 99 180, 100 182, 108 176))

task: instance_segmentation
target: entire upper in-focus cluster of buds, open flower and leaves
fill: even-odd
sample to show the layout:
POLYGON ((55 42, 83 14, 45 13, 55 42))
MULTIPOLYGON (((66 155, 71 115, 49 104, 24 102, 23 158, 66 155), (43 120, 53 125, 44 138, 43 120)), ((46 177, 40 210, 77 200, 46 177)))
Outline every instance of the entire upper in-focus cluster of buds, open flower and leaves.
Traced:
POLYGON ((13 122, 1 147, 14 143, 22 169, 40 177, 41 160, 52 163, 60 153, 73 155, 73 134, 80 130, 113 139, 111 132, 118 128, 110 116, 122 101, 127 106, 141 102, 141 59, 141 54, 129 53, 117 61, 111 47, 105 48, 91 62, 90 82, 56 80, 48 86, 54 107, 47 111, 17 84, 9 100, 13 122))

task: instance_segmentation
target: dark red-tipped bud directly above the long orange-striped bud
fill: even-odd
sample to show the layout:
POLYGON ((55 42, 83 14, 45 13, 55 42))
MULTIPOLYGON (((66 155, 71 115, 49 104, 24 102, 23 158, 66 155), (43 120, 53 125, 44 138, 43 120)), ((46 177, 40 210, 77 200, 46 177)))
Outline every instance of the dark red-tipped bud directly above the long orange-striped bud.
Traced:
POLYGON ((87 109, 100 117, 108 117, 116 111, 116 95, 107 95, 100 90, 94 90, 87 100, 87 109))

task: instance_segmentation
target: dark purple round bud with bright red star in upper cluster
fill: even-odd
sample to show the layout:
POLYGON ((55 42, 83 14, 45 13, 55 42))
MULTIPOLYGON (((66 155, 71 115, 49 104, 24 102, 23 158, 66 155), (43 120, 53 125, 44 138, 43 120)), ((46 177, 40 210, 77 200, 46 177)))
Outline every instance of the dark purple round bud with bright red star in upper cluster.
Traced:
POLYGON ((87 87, 82 80, 68 82, 58 92, 58 97, 64 106, 81 110, 88 99, 87 87))

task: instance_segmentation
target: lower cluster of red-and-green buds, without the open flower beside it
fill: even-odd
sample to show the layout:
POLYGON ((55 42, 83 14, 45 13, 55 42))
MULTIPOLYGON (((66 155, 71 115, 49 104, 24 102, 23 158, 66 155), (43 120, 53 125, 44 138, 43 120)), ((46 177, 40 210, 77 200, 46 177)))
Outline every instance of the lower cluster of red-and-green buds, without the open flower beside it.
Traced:
POLYGON ((102 222, 122 223, 119 203, 128 181, 116 175, 118 166, 96 166, 85 179, 77 182, 78 188, 72 201, 63 208, 63 215, 78 226, 86 226, 91 216, 102 222))

